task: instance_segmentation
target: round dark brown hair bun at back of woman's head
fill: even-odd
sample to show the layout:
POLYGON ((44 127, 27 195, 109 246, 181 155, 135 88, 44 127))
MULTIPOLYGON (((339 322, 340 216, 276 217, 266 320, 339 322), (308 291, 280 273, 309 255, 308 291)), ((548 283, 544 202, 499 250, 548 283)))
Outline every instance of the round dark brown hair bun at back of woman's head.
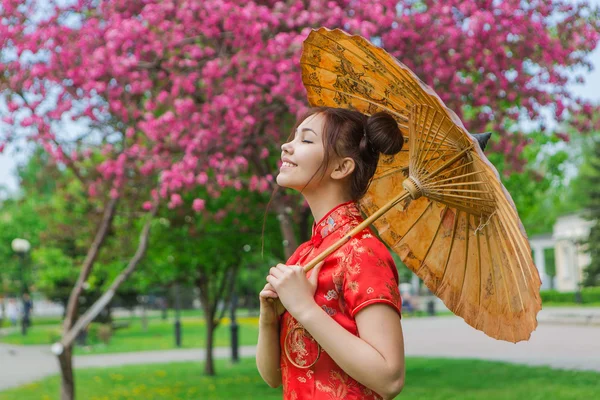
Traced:
POLYGON ((367 120, 366 129, 374 150, 386 155, 393 155, 402 150, 404 136, 390 114, 382 111, 371 115, 367 120))

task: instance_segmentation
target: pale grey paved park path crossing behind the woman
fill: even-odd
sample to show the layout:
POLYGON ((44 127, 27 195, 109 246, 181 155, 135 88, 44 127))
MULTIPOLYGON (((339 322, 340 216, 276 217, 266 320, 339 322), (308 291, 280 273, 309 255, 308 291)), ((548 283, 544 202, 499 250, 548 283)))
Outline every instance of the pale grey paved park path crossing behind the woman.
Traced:
MULTIPOLYGON (((407 356, 478 358, 553 368, 600 372, 600 309, 542 310, 540 325, 527 342, 517 344, 490 339, 461 318, 407 318, 403 322, 407 356)), ((242 346, 241 357, 255 354, 242 346)), ((111 367, 205 359, 203 349, 175 349, 75 356, 75 368, 111 367)), ((229 348, 216 348, 215 358, 229 358, 229 348)), ((410 368, 410 364, 408 365, 410 368)), ((49 346, 14 346, 0 343, 0 391, 59 372, 49 346)))

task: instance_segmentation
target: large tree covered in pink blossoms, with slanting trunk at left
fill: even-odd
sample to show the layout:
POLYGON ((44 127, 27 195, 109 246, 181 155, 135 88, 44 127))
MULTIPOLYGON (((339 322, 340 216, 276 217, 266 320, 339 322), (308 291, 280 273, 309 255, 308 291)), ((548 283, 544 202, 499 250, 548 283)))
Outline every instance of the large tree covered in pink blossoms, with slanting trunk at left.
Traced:
MULTIPOLYGON (((306 107, 298 62, 311 28, 379 40, 471 131, 494 130, 493 150, 515 170, 526 137, 511 122, 543 122, 550 107, 559 122, 579 115, 586 128, 594 112, 566 85, 569 70, 590 67, 586 56, 599 39, 598 10, 585 1, 3 0, 0 19, 8 111, 0 149, 35 141, 85 181, 90 196, 108 199, 73 302, 136 179, 158 177, 147 190, 151 214, 163 200, 181 206, 182 193, 197 186, 211 197, 223 188, 274 188, 279 144, 306 107), (83 134, 67 134, 66 120, 84 125, 83 134), (83 168, 95 148, 102 157, 83 168)), ((204 201, 193 201, 197 212, 204 201)), ((289 199, 277 195, 273 204, 289 254, 297 244, 289 199)), ((66 337, 82 326, 74 320, 67 315, 66 337)), ((71 385, 63 399, 74 396, 70 365, 69 353, 61 358, 71 385)))

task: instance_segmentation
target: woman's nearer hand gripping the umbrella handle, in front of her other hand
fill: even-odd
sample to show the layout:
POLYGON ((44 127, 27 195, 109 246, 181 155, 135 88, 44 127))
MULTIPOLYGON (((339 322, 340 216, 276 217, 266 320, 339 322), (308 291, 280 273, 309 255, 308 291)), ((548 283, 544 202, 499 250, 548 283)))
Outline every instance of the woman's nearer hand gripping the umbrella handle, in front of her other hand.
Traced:
POLYGON ((269 271, 267 282, 275 290, 281 304, 296 319, 315 304, 317 278, 323 262, 313 268, 310 278, 306 277, 304 269, 299 265, 277 264, 269 271))

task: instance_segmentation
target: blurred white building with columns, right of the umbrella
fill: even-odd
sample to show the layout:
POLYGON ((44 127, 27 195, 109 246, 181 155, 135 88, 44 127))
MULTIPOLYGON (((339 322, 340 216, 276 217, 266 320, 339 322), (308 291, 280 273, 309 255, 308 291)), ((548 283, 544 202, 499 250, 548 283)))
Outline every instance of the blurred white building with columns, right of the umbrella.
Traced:
POLYGON ((552 234, 529 238, 533 261, 542 279, 542 289, 553 287, 560 292, 577 290, 583 279, 583 271, 591 261, 582 241, 589 236, 592 225, 593 222, 584 219, 580 213, 563 215, 556 220, 552 234), (551 283, 546 273, 546 261, 552 259, 556 276, 551 283))

